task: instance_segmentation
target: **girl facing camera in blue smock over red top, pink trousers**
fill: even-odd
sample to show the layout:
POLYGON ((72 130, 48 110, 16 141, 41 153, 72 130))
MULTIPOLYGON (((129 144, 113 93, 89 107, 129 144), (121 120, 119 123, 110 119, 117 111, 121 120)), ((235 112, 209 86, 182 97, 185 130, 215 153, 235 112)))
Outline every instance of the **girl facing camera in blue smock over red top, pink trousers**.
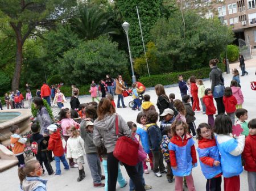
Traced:
POLYGON ((195 191, 192 177, 192 168, 196 167, 196 149, 195 142, 188 134, 188 125, 175 120, 171 128, 171 142, 168 145, 170 151, 172 173, 175 176, 175 191, 183 190, 183 176, 185 177, 189 191, 195 191))

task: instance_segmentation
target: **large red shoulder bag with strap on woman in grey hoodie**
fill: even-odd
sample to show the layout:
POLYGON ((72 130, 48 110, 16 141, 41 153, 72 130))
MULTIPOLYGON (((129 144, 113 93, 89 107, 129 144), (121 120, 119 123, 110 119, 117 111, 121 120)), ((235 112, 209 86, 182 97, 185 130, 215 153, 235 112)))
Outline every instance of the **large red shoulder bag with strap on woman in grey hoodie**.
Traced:
POLYGON ((119 137, 118 115, 115 116, 115 134, 117 135, 117 143, 114 148, 113 155, 122 163, 135 166, 138 163, 139 142, 135 142, 134 137, 119 137))

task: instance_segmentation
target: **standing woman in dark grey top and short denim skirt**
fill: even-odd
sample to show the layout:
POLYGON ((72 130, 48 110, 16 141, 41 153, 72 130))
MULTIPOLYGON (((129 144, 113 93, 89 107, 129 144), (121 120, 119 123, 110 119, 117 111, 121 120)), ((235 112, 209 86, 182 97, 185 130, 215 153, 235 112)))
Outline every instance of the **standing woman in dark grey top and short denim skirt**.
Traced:
POLYGON ((217 104, 218 114, 225 113, 225 107, 223 104, 224 96, 224 78, 222 77, 222 71, 217 67, 218 59, 212 59, 209 62, 210 66, 210 80, 212 81, 212 94, 217 104))

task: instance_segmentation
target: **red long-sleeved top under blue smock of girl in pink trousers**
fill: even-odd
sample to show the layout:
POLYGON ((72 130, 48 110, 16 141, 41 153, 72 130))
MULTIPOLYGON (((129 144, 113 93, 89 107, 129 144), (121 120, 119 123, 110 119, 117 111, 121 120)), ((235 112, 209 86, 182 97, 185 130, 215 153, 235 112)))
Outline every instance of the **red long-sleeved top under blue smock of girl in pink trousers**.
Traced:
MULTIPOLYGON (((179 146, 179 147, 183 147, 185 145, 187 145, 188 139, 191 139, 191 135, 189 134, 185 134, 184 139, 182 140, 180 136, 174 135, 171 138, 171 142, 174 143, 175 145, 179 146)), ((195 145, 191 146, 191 156, 192 156, 192 163, 195 164, 197 163, 197 159, 196 159, 196 148, 195 145)), ((177 156, 177 159, 179 159, 180 156, 177 156)), ((176 154, 175 151, 170 150, 170 160, 171 160, 171 166, 172 167, 176 167, 177 166, 177 162, 176 162, 176 154)))

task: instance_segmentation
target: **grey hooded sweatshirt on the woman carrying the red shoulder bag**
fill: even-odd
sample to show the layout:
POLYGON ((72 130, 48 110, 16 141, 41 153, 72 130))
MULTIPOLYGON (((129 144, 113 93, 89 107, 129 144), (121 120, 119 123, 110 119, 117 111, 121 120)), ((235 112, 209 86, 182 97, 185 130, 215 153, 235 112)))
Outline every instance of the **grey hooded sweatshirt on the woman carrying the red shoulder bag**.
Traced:
POLYGON ((95 120, 93 125, 93 143, 95 146, 102 146, 103 138, 104 146, 107 152, 113 152, 117 143, 117 135, 115 134, 115 117, 118 116, 118 136, 131 137, 132 132, 126 121, 118 114, 105 114, 103 120, 95 120))

